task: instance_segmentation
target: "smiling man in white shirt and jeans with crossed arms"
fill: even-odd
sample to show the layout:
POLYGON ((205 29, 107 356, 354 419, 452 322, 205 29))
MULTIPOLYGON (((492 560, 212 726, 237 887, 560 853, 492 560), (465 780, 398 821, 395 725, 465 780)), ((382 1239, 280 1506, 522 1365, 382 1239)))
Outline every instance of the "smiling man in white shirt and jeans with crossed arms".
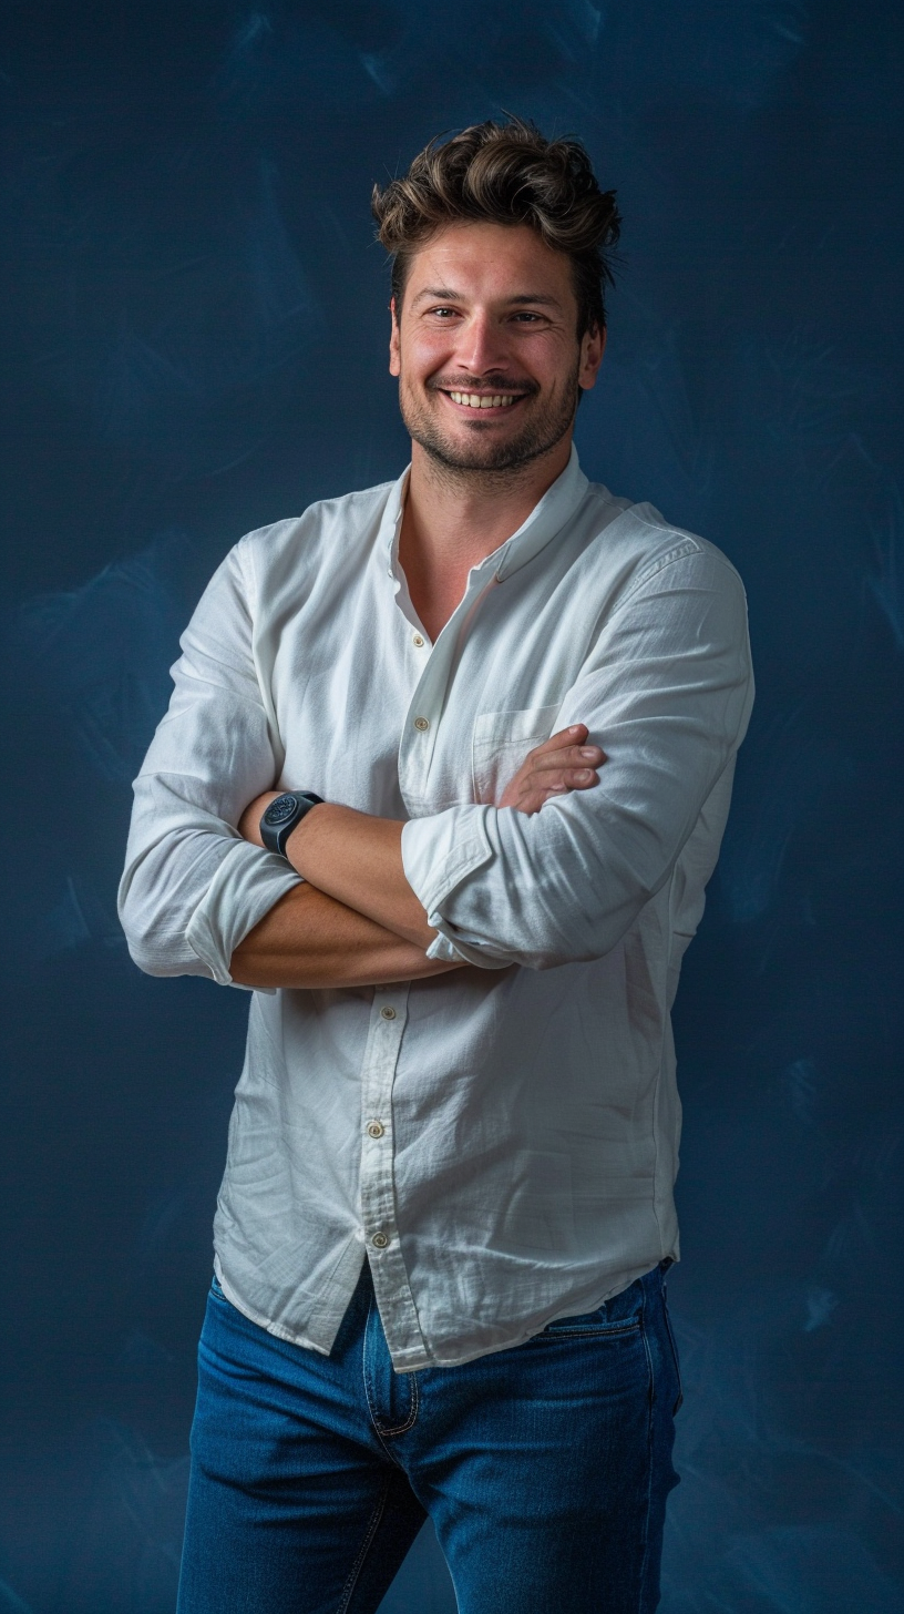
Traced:
POLYGON ((668 1012, 752 684, 710 544, 580 471, 617 239, 486 123, 375 194, 397 483, 249 534, 136 781, 136 962, 253 988, 181 1614, 659 1601, 668 1012))

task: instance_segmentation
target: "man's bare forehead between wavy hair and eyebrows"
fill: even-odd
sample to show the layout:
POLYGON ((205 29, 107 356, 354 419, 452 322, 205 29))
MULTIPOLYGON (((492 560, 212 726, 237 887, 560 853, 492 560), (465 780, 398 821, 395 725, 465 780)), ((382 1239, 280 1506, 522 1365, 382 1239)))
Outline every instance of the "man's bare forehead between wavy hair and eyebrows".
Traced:
POLYGON ((570 258, 528 224, 446 224, 412 253, 405 302, 428 287, 499 300, 536 292, 563 307, 575 300, 570 258))

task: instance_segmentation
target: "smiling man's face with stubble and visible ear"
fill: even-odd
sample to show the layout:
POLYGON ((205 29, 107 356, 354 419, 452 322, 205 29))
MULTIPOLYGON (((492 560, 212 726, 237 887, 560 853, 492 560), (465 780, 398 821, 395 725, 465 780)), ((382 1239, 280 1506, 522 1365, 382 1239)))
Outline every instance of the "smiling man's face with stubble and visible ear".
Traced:
POLYGON ((457 471, 513 471, 570 437, 604 332, 578 342, 570 260, 526 224, 449 224, 412 258, 389 370, 412 439, 457 471))

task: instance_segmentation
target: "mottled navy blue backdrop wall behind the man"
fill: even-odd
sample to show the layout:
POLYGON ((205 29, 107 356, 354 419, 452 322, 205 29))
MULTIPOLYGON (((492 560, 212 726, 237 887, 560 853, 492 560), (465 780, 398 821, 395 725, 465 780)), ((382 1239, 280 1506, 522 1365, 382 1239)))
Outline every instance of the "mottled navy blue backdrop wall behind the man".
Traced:
MULTIPOLYGON (((6 10, 3 1614, 173 1609, 247 1001, 131 965, 129 781, 224 550, 405 463, 370 186, 502 108, 580 134, 625 213, 584 470, 751 600, 759 702, 676 1012, 662 1606, 899 1608, 898 15, 6 10)), ((452 1608, 425 1532, 386 1609, 452 1608)))

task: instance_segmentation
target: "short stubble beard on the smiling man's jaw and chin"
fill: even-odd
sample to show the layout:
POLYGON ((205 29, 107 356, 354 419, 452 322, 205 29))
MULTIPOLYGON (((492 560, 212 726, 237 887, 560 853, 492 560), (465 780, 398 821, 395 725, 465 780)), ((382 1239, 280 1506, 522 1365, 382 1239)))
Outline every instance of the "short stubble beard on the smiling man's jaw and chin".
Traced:
MULTIPOLYGON (((420 444, 442 479, 508 483, 517 481, 518 475, 534 460, 552 454, 570 431, 578 408, 578 374, 580 365, 576 363, 565 381, 560 399, 552 400, 533 420, 526 421, 520 433, 502 442, 494 442, 489 429, 486 434, 473 433, 471 442, 467 445, 457 442, 452 434, 442 431, 436 418, 437 410, 433 410, 428 402, 407 395, 404 378, 399 387, 399 408, 408 436, 420 444)), ((428 384, 428 392, 436 391, 439 389, 428 384)), ((462 391, 467 389, 462 386, 462 391)), ((505 389, 500 386, 499 391, 505 389)), ((437 404, 437 408, 441 407, 437 404)), ((518 408, 517 404, 512 407, 518 408)))

